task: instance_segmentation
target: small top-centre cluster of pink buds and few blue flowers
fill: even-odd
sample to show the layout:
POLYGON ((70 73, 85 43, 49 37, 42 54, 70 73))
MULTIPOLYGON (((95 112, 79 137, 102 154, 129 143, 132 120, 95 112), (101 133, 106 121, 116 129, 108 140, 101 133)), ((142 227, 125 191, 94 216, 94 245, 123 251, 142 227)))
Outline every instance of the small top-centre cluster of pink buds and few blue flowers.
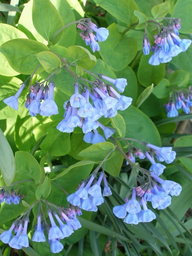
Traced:
POLYGON ((109 35, 107 28, 97 28, 96 24, 92 23, 91 19, 80 21, 77 28, 82 30, 79 35, 85 41, 86 45, 90 45, 93 52, 100 50, 97 41, 103 42, 108 38, 109 35), (95 32, 95 35, 93 32, 95 32))

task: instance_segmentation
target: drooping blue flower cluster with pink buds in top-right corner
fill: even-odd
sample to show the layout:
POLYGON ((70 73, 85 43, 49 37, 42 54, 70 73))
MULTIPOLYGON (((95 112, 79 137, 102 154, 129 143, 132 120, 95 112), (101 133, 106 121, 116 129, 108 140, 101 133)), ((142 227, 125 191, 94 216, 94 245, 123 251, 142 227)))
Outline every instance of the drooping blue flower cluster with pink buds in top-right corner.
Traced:
POLYGON ((172 57, 185 52, 191 44, 191 40, 179 37, 180 19, 172 18, 168 27, 159 24, 159 28, 160 33, 154 36, 155 44, 151 48, 146 32, 143 38, 143 52, 145 55, 149 54, 150 49, 154 52, 149 59, 149 64, 154 66, 171 61, 172 57))

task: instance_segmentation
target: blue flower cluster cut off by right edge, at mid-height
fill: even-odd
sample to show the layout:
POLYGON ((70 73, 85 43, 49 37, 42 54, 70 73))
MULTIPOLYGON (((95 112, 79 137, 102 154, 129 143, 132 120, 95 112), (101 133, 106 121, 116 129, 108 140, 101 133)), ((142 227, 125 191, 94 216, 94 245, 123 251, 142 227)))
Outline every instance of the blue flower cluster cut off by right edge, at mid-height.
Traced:
POLYGON ((190 113, 190 107, 192 107, 192 93, 186 89, 175 91, 172 90, 173 94, 167 104, 164 105, 167 117, 178 116, 177 110, 181 109, 185 114, 190 113))

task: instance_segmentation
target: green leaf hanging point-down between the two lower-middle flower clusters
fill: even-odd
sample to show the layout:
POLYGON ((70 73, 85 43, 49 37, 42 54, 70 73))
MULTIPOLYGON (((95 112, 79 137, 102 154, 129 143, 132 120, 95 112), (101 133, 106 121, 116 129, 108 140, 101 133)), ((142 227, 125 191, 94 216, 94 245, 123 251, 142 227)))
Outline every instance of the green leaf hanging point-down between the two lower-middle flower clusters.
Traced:
MULTIPOLYGON (((117 143, 121 148, 121 144, 119 143, 119 141, 117 143)), ((114 155, 111 158, 107 159, 107 161, 105 161, 105 171, 114 177, 118 177, 121 171, 121 166, 123 164, 123 159, 124 158, 119 150, 115 149, 114 155)))

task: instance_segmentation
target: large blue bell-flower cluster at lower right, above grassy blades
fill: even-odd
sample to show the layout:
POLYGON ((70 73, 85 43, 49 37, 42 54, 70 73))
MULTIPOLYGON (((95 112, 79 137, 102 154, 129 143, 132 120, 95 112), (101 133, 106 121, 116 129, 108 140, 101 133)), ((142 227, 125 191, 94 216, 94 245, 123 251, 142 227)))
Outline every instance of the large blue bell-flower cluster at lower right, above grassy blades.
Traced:
MULTIPOLYGON (((175 159, 176 153, 172 151, 171 147, 160 148, 152 144, 147 144, 146 146, 148 152, 145 155, 152 164, 147 172, 148 181, 141 179, 142 184, 137 188, 133 188, 131 199, 125 198, 123 205, 113 208, 116 217, 124 219, 124 222, 128 224, 154 220, 156 215, 148 209, 147 202, 151 202, 154 209, 164 209, 171 204, 171 196, 179 196, 181 192, 181 186, 178 183, 158 177, 163 173, 166 166, 156 163, 153 156, 155 154, 159 162, 165 161, 170 164, 175 159), (141 206, 143 209, 141 209, 141 206)), ((129 154, 128 158, 135 162, 132 153, 129 154)))

